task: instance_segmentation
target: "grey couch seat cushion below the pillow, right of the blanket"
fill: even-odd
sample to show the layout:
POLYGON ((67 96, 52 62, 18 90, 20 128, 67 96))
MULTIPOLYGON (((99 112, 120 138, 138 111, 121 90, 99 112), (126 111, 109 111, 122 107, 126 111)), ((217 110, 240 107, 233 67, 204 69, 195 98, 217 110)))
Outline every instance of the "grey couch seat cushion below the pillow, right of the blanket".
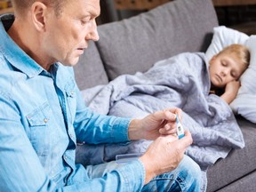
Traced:
POLYGON ((242 117, 237 117, 237 123, 244 134, 245 148, 233 149, 208 170, 207 191, 216 191, 256 170, 256 124, 242 117))

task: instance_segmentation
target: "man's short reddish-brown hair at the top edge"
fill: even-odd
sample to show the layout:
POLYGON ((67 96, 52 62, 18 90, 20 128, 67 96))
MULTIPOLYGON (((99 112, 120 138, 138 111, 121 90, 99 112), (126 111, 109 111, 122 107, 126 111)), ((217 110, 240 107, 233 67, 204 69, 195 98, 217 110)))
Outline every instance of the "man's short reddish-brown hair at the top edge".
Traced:
POLYGON ((52 6, 54 8, 54 12, 56 16, 60 16, 63 5, 68 0, 12 0, 14 13, 18 13, 22 15, 22 12, 28 12, 29 7, 32 4, 34 4, 36 1, 42 2, 48 6, 52 6))

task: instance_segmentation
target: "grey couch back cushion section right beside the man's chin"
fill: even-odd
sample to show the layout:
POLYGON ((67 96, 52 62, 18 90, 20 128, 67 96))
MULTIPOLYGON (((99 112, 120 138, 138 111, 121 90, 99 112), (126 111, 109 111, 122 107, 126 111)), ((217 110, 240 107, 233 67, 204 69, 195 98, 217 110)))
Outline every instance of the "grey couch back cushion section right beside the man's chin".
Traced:
POLYGON ((94 42, 89 43, 88 49, 86 49, 84 54, 80 57, 74 70, 76 83, 80 90, 98 84, 108 84, 108 76, 94 42))

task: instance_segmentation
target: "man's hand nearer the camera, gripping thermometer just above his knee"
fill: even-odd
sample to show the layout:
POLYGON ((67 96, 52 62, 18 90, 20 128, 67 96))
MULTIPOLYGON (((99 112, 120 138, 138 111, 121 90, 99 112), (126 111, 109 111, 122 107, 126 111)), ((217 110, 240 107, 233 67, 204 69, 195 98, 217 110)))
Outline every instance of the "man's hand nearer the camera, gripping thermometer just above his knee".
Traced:
POLYGON ((144 164, 146 177, 144 184, 159 174, 171 172, 182 160, 186 148, 192 143, 190 132, 185 131, 185 137, 178 140, 172 135, 160 136, 149 147, 140 161, 144 164))

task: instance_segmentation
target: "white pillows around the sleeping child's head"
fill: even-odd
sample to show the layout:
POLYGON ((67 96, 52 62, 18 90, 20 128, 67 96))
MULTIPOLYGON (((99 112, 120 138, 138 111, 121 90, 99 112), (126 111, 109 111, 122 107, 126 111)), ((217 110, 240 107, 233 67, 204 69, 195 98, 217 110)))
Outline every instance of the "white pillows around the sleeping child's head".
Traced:
POLYGON ((212 43, 205 52, 206 59, 211 60, 214 54, 229 44, 244 44, 251 52, 250 65, 240 77, 241 87, 230 107, 236 115, 256 123, 256 36, 247 36, 225 26, 213 28, 212 43))

